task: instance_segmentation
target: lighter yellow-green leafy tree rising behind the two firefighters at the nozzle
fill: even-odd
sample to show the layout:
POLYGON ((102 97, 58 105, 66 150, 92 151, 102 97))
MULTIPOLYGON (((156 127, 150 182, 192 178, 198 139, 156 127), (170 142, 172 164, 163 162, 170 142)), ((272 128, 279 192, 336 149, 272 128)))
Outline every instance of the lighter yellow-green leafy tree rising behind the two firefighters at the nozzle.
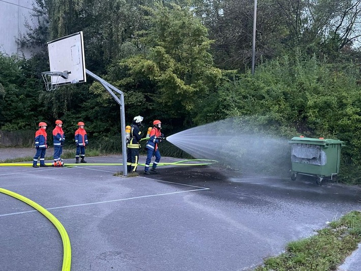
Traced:
POLYGON ((153 82, 157 86, 155 101, 171 116, 185 117, 220 82, 221 70, 213 67, 208 52, 212 41, 189 7, 157 4, 144 10, 149 27, 137 41, 146 51, 121 66, 133 82, 140 75, 153 82))

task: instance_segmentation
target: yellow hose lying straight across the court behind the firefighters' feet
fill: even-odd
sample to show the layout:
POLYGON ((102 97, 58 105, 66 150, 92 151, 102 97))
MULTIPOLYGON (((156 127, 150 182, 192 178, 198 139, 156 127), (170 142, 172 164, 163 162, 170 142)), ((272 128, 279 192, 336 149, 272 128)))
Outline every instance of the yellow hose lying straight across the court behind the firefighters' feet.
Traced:
MULTIPOLYGON (((190 160, 182 160, 172 163, 158 163, 158 166, 205 166, 205 165, 212 165, 218 163, 217 160, 208 160, 208 159, 190 159, 190 160), (197 162, 197 161, 204 161, 205 163, 189 163, 189 162, 197 162)), ((46 163, 47 166, 52 166, 53 164, 46 163)), ((145 166, 145 164, 138 163, 139 166, 145 166)), ((0 163, 0 166, 3 167, 31 167, 33 163, 0 163)), ((67 164, 65 163, 64 166, 123 166, 121 163, 79 163, 79 164, 67 164)), ((152 166, 149 165, 149 166, 152 166)))

